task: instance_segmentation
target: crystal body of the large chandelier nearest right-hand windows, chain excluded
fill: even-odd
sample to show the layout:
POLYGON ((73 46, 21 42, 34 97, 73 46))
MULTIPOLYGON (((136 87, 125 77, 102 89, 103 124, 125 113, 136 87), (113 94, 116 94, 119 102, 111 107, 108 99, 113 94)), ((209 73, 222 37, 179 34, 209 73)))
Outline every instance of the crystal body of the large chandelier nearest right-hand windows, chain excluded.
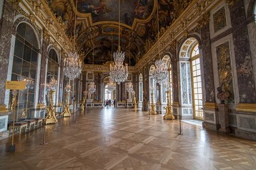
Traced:
POLYGON ((154 80, 156 80, 158 84, 165 82, 165 79, 167 78, 165 63, 163 63, 162 60, 157 60, 155 66, 156 68, 152 73, 154 80))

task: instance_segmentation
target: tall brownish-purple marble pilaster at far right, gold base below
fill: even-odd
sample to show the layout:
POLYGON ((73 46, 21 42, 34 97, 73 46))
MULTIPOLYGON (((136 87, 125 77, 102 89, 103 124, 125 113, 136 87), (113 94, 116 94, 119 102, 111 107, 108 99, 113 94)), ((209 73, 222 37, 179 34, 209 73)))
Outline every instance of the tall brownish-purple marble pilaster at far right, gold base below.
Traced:
POLYGON ((256 103, 255 80, 253 78, 244 1, 240 0, 231 5, 230 15, 240 103, 256 103))

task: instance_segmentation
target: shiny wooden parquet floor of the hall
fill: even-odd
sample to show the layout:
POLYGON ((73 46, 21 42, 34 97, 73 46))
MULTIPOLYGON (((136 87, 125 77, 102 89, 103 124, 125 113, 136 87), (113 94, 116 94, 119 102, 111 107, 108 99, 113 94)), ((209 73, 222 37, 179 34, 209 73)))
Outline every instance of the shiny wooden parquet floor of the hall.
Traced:
POLYGON ((133 109, 87 109, 0 141, 0 169, 256 169, 256 142, 133 109))

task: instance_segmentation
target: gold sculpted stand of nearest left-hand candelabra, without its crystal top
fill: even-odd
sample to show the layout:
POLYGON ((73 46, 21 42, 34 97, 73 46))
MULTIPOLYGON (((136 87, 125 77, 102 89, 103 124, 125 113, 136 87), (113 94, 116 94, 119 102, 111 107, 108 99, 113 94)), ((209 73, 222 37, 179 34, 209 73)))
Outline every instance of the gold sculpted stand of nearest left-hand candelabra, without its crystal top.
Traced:
POLYGON ((55 116, 55 110, 53 108, 53 94, 54 94, 55 90, 51 89, 49 91, 49 95, 50 95, 50 104, 46 109, 47 112, 47 116, 44 119, 44 124, 52 124, 52 123, 57 123, 58 120, 55 116))

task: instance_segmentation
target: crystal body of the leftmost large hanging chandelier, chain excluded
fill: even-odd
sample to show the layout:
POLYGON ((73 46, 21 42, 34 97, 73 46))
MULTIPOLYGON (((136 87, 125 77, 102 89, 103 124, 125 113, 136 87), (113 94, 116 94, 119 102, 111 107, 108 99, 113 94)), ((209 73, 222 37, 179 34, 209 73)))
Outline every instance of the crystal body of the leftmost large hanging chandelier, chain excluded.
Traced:
POLYGON ((77 78, 82 72, 82 62, 76 52, 69 52, 68 58, 64 59, 63 73, 70 80, 77 78))

